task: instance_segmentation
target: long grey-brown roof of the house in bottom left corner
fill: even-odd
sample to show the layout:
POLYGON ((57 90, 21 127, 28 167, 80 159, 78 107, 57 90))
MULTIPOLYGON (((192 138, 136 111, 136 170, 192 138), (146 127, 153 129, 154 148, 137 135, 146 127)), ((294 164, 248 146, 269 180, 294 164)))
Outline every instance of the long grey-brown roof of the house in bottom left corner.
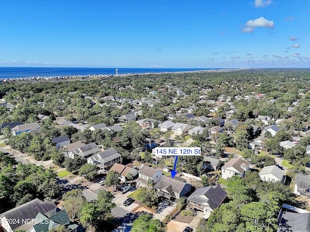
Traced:
POLYGON ((9 211, 0 214, 0 217, 5 216, 7 220, 13 219, 16 223, 12 223, 10 226, 12 230, 15 230, 17 227, 24 224, 23 219, 25 221, 27 218, 35 218, 38 213, 45 214, 55 208, 56 204, 53 201, 42 202, 36 198, 31 202, 21 204, 9 211), (15 221, 16 218, 19 218, 19 223, 15 221))

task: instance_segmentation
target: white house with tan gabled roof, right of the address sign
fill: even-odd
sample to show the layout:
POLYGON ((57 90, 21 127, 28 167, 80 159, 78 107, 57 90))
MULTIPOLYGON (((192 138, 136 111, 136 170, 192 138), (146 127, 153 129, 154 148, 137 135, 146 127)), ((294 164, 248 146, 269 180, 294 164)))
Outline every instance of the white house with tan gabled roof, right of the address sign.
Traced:
POLYGON ((249 165, 250 163, 248 161, 242 160, 241 158, 233 158, 222 167, 222 178, 227 180, 233 175, 244 177, 249 170, 249 165))

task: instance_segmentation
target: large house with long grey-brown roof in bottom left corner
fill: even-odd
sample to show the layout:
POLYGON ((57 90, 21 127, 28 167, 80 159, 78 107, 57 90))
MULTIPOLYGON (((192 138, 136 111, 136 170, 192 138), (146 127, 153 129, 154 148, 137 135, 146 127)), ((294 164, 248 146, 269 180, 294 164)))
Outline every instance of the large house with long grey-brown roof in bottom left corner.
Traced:
POLYGON ((28 231, 34 224, 26 223, 29 218, 35 218, 38 213, 47 214, 55 208, 56 204, 53 201, 42 202, 36 198, 0 214, 0 225, 6 232, 14 232, 19 229, 28 231))

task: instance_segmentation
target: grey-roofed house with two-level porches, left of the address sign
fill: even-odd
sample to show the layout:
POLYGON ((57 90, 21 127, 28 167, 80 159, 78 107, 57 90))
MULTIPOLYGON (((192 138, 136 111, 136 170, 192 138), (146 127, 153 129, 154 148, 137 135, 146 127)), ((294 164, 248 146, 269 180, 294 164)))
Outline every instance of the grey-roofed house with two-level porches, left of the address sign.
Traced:
POLYGON ((87 163, 109 171, 114 163, 122 164, 123 158, 114 148, 109 148, 87 158, 87 163))

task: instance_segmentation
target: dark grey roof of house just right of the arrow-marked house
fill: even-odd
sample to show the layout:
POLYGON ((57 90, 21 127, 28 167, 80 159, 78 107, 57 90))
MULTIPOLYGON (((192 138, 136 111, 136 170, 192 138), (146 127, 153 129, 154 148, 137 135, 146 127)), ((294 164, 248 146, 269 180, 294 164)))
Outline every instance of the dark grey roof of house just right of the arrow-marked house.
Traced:
POLYGON ((211 209, 217 208, 226 198, 227 192, 217 185, 198 188, 187 200, 198 204, 208 203, 211 209))

